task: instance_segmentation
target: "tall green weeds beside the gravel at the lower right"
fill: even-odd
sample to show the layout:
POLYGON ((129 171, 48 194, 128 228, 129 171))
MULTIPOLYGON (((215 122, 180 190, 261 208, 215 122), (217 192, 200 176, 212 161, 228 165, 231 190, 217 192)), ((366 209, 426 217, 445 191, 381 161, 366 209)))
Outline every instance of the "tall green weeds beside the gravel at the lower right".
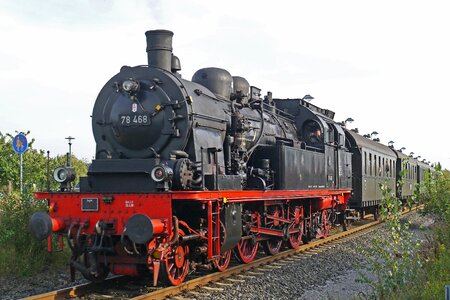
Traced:
POLYGON ((426 174, 412 198, 412 202, 424 203, 423 214, 438 221, 424 243, 414 241, 410 224, 400 221, 401 201, 393 191, 386 184, 380 188, 381 216, 386 221, 387 234, 378 234, 371 245, 361 249, 368 260, 363 269, 374 274, 375 280, 360 272, 358 281, 373 288, 369 298, 442 299, 445 285, 450 284, 449 171, 438 166, 434 173, 426 174))

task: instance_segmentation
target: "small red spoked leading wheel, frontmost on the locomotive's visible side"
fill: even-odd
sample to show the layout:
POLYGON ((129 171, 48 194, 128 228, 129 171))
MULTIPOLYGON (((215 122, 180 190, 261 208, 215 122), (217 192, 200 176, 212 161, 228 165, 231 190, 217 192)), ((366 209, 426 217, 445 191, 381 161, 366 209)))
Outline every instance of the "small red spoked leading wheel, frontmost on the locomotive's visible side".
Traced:
MULTIPOLYGON (((179 230, 180 236, 184 232, 179 230)), ((187 245, 175 244, 171 246, 167 257, 161 262, 161 280, 166 284, 181 284, 189 271, 189 247, 187 245)))

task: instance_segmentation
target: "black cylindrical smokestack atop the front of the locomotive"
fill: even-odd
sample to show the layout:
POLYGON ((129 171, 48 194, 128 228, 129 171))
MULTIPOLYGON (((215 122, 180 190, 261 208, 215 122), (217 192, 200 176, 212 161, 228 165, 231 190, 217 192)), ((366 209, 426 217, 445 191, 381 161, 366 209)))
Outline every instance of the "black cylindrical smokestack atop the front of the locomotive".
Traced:
POLYGON ((172 71, 172 37, 169 30, 149 30, 147 37, 148 65, 172 71))

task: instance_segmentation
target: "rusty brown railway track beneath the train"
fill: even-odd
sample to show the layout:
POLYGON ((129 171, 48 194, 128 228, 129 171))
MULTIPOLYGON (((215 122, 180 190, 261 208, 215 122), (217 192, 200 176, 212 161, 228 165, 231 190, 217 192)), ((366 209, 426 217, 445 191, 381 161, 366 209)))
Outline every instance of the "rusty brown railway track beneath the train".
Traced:
MULTIPOLYGON (((403 215, 409 214, 420 207, 415 207, 411 211, 403 212, 403 215)), ((367 215, 366 218, 371 217, 367 215)), ((50 300, 50 299, 165 299, 174 297, 181 293, 193 293, 192 290, 203 287, 205 290, 220 290, 221 285, 232 285, 233 282, 242 282, 245 278, 252 278, 255 275, 262 275, 262 269, 282 268, 289 261, 295 261, 304 257, 304 255, 316 255, 322 251, 330 249, 339 243, 364 235, 375 230, 383 223, 382 221, 371 221, 370 223, 360 225, 347 231, 342 231, 330 235, 326 239, 312 241, 302 245, 297 249, 286 250, 273 256, 264 256, 255 259, 249 264, 238 264, 228 268, 223 272, 207 273, 186 280, 178 286, 169 287, 150 287, 150 278, 143 280, 131 279, 124 276, 112 276, 102 283, 85 283, 55 290, 52 292, 31 296, 28 300, 50 300), (208 284, 214 283, 215 287, 208 287, 208 284)))

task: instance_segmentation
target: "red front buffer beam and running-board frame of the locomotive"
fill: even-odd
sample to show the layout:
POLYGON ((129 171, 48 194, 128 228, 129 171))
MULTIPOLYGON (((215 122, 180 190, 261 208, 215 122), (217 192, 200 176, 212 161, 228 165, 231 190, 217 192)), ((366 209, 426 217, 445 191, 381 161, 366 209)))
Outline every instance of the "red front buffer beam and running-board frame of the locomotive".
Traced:
MULTIPOLYGON (((114 222, 115 234, 123 232, 126 220, 136 213, 142 213, 151 219, 160 219, 165 224, 164 234, 172 233, 172 201, 198 201, 207 205, 208 210, 208 258, 220 256, 220 206, 224 203, 246 203, 264 201, 267 205, 278 201, 287 203, 292 200, 311 199, 314 211, 323 209, 345 209, 351 190, 224 190, 224 191, 171 191, 161 193, 35 193, 37 199, 47 199, 49 214, 52 218, 62 218, 66 228, 71 223, 87 224, 85 232, 95 233, 95 222, 99 219, 114 222), (103 196, 113 196, 112 203, 104 204, 103 196), (98 198, 99 211, 81 211, 82 198, 98 198), (213 226, 215 225, 215 228, 213 226)), ((253 232, 278 235, 263 228, 252 228, 253 232)), ((51 250, 51 249, 49 249, 51 250)))

